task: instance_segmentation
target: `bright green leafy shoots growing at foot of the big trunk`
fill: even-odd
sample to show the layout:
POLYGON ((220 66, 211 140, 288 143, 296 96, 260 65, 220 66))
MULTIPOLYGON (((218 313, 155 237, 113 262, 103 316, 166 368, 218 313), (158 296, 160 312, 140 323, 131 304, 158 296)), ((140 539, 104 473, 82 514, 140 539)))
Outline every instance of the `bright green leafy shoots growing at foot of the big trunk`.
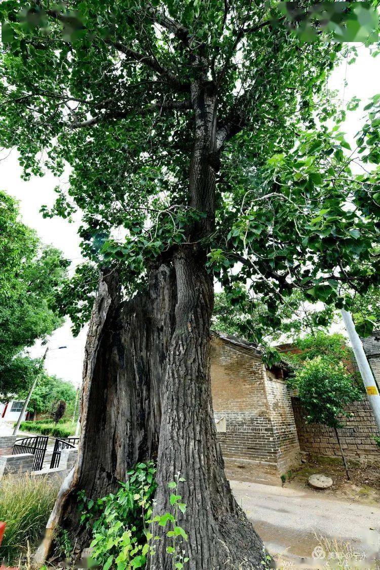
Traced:
POLYGON ((128 473, 128 481, 120 483, 115 495, 98 499, 96 503, 85 498, 83 493, 79 495, 81 523, 86 522, 92 527, 93 557, 103 570, 144 568, 148 557, 154 553, 154 523, 163 527, 168 523, 171 525, 166 535, 172 538, 167 552, 172 556, 173 568, 181 570, 189 560, 178 548, 182 539, 187 540, 186 532, 176 523, 178 509, 186 510, 181 495, 178 495, 179 483, 185 479, 177 474, 176 481, 169 483, 169 488, 175 489, 170 495, 174 514, 167 512, 152 519, 153 496, 157 487, 155 473, 152 462, 148 465, 138 463, 128 473))

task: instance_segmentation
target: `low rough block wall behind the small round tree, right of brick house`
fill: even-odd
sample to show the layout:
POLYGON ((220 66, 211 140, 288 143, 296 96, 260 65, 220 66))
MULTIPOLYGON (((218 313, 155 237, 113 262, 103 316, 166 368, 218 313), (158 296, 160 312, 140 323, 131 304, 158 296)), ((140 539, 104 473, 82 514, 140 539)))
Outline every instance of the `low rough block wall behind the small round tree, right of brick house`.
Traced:
MULTIPOLYGON (((292 397, 298 439, 301 451, 327 457, 341 457, 335 431, 321 424, 306 424, 297 397, 292 397)), ((342 449, 348 459, 361 463, 380 463, 380 448, 371 435, 377 434, 377 426, 367 398, 348 407, 351 416, 342 418, 338 429, 342 449)))

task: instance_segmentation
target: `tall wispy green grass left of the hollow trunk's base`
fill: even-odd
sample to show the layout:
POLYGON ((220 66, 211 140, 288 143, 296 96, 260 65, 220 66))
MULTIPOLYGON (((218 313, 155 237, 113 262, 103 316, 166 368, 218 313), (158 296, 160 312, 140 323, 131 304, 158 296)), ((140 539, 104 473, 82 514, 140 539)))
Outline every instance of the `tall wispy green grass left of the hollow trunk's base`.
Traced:
POLYGON ((0 561, 16 563, 35 548, 54 506, 60 481, 29 474, 8 475, 0 483, 0 520, 6 523, 0 561))

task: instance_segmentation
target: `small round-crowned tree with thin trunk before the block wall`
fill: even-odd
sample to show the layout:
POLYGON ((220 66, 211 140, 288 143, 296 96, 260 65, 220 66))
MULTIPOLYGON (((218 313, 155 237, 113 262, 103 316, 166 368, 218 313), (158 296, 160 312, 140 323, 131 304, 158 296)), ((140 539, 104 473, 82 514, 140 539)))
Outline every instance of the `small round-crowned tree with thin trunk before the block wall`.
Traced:
POLYGON ((307 413, 306 422, 324 424, 334 429, 349 479, 338 428, 343 427, 341 418, 349 416, 346 406, 362 398, 359 389, 353 385, 352 377, 344 365, 328 355, 322 355, 305 360, 303 366, 296 371, 291 384, 296 388, 301 405, 307 413))

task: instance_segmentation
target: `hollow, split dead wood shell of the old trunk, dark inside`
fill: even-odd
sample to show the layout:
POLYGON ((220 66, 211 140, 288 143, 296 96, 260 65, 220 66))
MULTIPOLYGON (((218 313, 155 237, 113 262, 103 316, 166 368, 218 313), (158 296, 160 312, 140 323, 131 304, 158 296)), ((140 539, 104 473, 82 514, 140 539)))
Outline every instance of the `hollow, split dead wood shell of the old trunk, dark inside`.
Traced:
POLYGON ((137 462, 157 459, 173 275, 161 265, 151 272, 148 291, 128 302, 120 302, 115 274, 101 279, 85 347, 78 459, 59 492, 36 563, 51 552, 58 527, 75 535, 77 554, 86 545, 79 491, 88 498, 105 496, 137 462))

